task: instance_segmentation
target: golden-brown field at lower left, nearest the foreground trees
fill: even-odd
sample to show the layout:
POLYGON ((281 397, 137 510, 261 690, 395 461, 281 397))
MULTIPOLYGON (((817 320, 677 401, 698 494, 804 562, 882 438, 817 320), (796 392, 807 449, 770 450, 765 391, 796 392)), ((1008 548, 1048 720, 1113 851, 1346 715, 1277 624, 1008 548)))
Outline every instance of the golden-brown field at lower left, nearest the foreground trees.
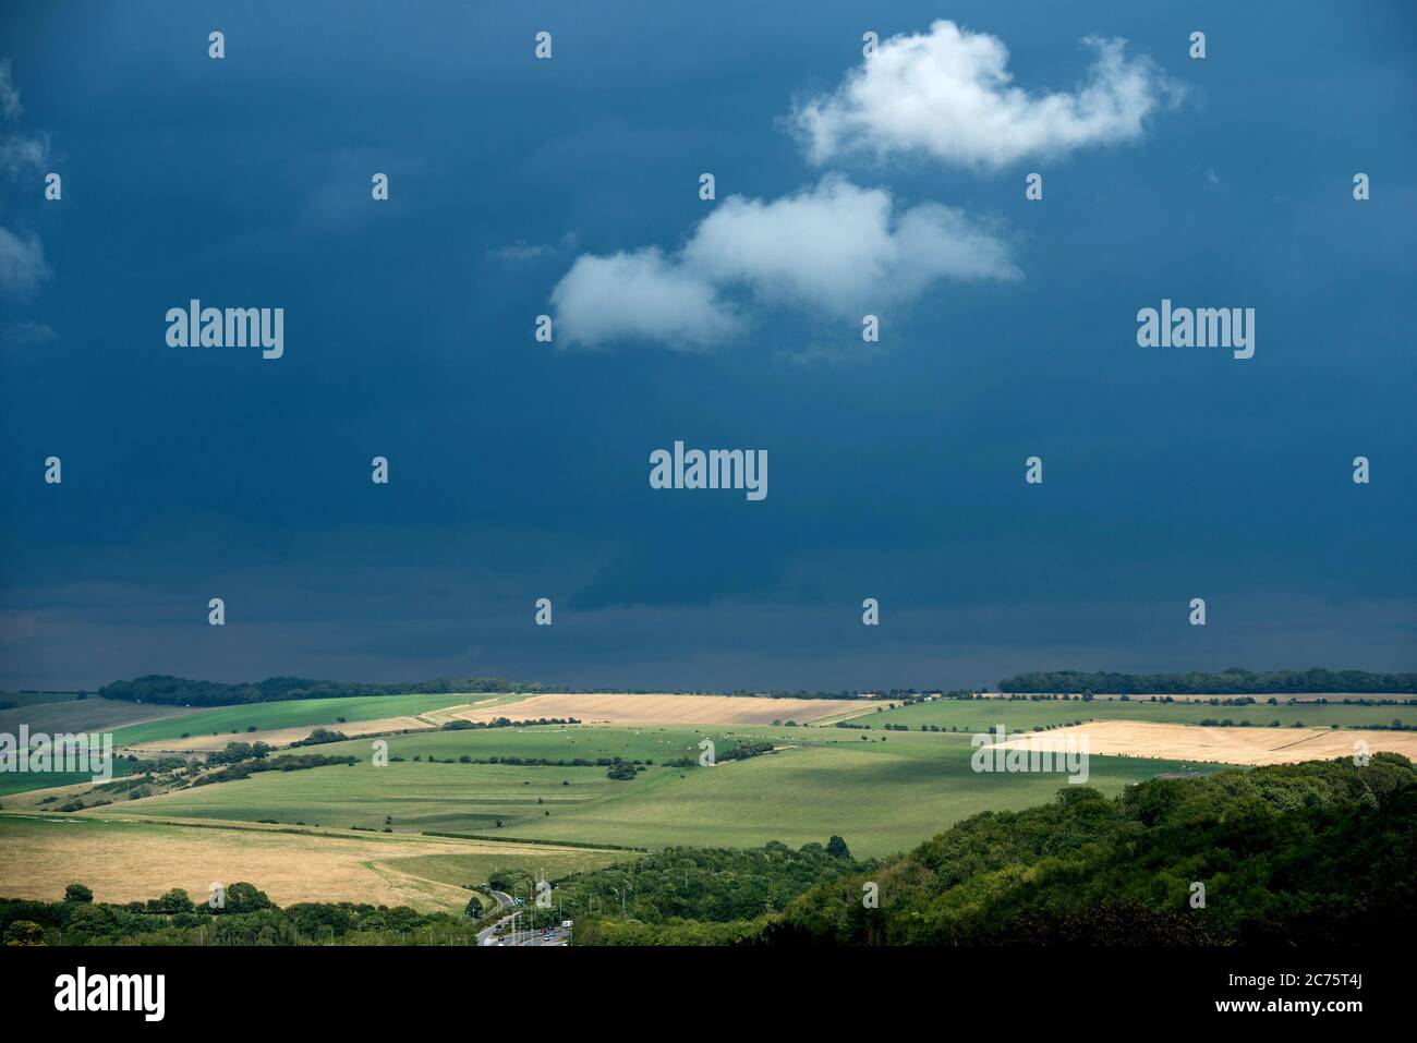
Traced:
POLYGON ((154 898, 171 887, 205 900, 213 881, 256 884, 278 904, 364 901, 461 911, 497 869, 550 877, 623 855, 419 836, 302 835, 95 818, 0 816, 0 894, 61 898, 85 883, 98 901, 154 898))

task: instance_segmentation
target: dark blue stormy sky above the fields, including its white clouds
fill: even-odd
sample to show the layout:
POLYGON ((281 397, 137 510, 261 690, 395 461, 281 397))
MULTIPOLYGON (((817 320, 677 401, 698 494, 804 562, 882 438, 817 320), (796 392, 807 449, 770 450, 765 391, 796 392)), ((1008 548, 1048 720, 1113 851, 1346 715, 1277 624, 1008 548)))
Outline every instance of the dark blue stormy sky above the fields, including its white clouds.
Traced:
POLYGON ((1417 667, 1417 14, 1234 7, 6 6, 0 686, 1417 667), (191 298, 283 357, 167 347, 191 298), (1254 357, 1138 347, 1163 298, 1254 357), (676 439, 769 495, 652 489, 676 439))

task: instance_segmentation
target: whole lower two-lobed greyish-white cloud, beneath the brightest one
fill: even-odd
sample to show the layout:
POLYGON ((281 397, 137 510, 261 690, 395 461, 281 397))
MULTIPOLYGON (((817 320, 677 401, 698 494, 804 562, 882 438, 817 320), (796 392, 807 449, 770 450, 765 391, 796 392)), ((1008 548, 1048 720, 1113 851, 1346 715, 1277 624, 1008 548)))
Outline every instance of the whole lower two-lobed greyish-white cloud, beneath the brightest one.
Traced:
POLYGON ((859 317, 941 279, 1020 276, 1007 245, 965 213, 935 203, 900 210, 887 190, 829 174, 778 200, 730 197, 673 256, 585 254, 551 303, 565 346, 639 339, 701 349, 741 330, 750 302, 859 317))

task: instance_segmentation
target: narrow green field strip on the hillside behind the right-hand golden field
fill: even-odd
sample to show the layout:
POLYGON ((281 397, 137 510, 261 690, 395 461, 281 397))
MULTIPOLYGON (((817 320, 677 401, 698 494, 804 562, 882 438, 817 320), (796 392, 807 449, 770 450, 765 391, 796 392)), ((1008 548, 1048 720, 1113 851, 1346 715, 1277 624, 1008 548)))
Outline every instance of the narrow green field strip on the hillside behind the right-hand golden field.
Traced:
POLYGON ((1094 699, 1088 703, 1081 700, 1040 700, 1027 699, 939 699, 934 703, 915 703, 901 706, 896 710, 881 710, 880 713, 866 713, 853 717, 852 724, 870 724, 880 728, 883 724, 908 724, 913 730, 921 724, 938 724, 941 728, 958 728, 973 734, 989 731, 996 724, 1006 724, 1010 731, 1029 731, 1034 726, 1047 727, 1050 724, 1067 724, 1071 721, 1156 721, 1172 724, 1199 724, 1203 720, 1224 718, 1250 721, 1255 727, 1267 727, 1272 721, 1280 721, 1282 727, 1294 727, 1302 723, 1306 727, 1326 728, 1331 724, 1339 727, 1355 726, 1383 726, 1393 720, 1400 720, 1406 726, 1417 724, 1417 704, 1407 706, 1343 706, 1340 703, 1302 703, 1298 706, 1270 706, 1263 700, 1254 706, 1212 706, 1199 701, 1121 701, 1114 699, 1094 699))

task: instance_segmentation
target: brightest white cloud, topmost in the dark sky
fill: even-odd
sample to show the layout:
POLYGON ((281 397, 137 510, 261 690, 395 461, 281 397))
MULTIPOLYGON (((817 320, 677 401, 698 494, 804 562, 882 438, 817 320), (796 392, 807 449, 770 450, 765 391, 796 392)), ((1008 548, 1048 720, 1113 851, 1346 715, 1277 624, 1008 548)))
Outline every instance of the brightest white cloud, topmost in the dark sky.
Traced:
POLYGON ((1013 86, 998 37, 935 21, 928 33, 883 41, 836 92, 799 103, 792 126, 813 163, 842 154, 922 152, 966 167, 1139 137, 1146 116, 1180 88, 1127 41, 1088 37, 1097 52, 1077 91, 1013 86))

